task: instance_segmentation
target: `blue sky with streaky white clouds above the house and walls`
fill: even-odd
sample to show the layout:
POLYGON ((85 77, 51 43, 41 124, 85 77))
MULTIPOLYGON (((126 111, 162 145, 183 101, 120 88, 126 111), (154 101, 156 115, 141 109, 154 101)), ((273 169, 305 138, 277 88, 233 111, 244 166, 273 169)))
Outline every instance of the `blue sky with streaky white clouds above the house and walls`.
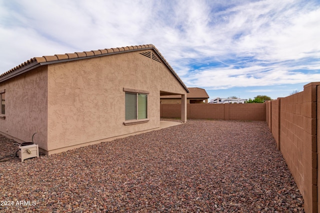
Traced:
POLYGON ((150 43, 210 99, 285 97, 320 81, 320 0, 0 0, 0 73, 150 43))

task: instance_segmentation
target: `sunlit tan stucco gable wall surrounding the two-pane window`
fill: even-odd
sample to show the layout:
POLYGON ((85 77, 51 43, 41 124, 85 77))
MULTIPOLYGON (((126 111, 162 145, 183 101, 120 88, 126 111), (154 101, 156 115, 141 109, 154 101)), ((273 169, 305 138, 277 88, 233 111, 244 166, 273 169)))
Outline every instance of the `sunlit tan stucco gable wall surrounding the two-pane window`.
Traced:
POLYGON ((144 51, 48 65, 48 154, 159 127, 160 90, 186 91, 164 63, 139 54, 144 51), (123 125, 123 88, 148 92, 147 123, 123 125))

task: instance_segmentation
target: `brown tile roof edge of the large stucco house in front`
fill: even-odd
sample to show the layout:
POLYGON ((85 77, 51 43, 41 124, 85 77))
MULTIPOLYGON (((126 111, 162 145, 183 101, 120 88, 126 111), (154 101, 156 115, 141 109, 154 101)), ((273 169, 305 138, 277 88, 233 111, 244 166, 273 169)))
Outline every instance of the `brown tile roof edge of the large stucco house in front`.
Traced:
MULTIPOLYGON (((50 55, 50 56, 34 57, 34 58, 31 58, 30 60, 25 61, 22 64, 10 69, 9 71, 0 74, 0 82, 5 81, 9 78, 12 78, 16 75, 22 74, 24 72, 27 72, 27 71, 34 69, 34 68, 41 66, 41 65, 74 61, 74 60, 93 58, 93 57, 100 57, 100 56, 118 54, 118 53, 123 53, 123 52, 147 50, 147 49, 153 49, 156 52, 156 54, 161 58, 161 60, 169 68, 169 70, 172 72, 172 74, 177 78, 177 80, 184 87, 184 89, 187 92, 189 92, 189 90, 184 85, 184 83, 179 78, 179 76, 175 73, 173 68, 169 65, 169 63, 164 59, 164 57, 155 48, 155 46, 153 44, 138 45, 138 46, 125 46, 125 47, 116 47, 116 48, 110 48, 110 49, 99 49, 99 50, 84 51, 84 52, 74 52, 74 53, 65 53, 65 54, 56 54, 56 55, 50 55)), ((152 55, 152 57, 153 57, 153 55, 152 55)))

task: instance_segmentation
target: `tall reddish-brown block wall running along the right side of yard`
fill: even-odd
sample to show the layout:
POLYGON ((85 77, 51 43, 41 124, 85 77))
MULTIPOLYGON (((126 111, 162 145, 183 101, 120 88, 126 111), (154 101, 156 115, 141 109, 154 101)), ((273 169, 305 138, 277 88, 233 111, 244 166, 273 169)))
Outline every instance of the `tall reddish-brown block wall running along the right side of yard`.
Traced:
POLYGON ((266 103, 266 121, 303 196, 307 213, 320 210, 317 190, 319 101, 320 82, 313 82, 306 84, 302 92, 266 103))

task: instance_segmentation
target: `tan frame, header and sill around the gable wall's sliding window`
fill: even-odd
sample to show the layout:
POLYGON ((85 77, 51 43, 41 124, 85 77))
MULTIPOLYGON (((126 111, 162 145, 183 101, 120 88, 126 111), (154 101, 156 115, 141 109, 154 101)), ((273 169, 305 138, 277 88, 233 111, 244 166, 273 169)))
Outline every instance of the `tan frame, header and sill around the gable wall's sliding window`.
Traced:
MULTIPOLYGON (((123 122, 124 125, 132 125, 132 124, 140 124, 140 123, 146 123, 148 122, 150 119, 148 119, 148 91, 145 90, 136 90, 136 89, 128 89, 128 88, 123 88, 124 91, 124 96, 126 97, 126 94, 135 94, 135 118, 134 119, 129 119, 129 120, 125 120, 123 122), (146 108, 145 110, 145 118, 138 118, 139 117, 139 107, 138 107, 138 103, 139 103, 139 95, 145 95, 146 100, 145 100, 145 105, 144 107, 146 108)), ((126 98, 124 100, 124 103, 126 105, 126 98)), ((126 108, 126 106, 124 106, 126 108)), ((141 107, 140 107, 141 108, 141 107)), ((125 109, 125 113, 124 113, 124 119, 126 119, 126 109, 125 109)))

